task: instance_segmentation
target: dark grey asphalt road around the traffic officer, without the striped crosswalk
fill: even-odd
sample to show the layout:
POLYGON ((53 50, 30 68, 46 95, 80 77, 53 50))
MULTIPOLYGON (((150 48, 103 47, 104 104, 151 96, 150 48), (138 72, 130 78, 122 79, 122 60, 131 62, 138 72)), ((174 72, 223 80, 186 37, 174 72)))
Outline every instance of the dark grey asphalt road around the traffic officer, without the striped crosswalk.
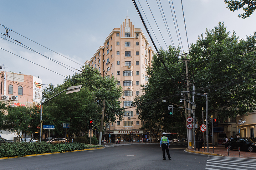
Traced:
MULTIPOLYGON (((159 144, 109 144, 104 149, 0 160, 9 170, 198 170, 206 168, 206 155, 187 153, 181 143, 171 144, 171 160, 162 160, 159 144)), ((167 157, 167 155, 166 155, 167 157)))

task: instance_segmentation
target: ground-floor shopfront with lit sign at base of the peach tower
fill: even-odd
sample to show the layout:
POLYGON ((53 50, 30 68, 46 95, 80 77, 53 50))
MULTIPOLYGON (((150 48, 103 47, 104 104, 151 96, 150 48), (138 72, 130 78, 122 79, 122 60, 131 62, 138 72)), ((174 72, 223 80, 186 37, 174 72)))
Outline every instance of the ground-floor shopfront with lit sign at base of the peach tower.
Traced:
POLYGON ((104 135, 102 135, 102 140, 109 141, 110 143, 117 143, 120 141, 121 143, 139 143, 142 142, 150 142, 154 138, 153 134, 149 134, 148 131, 145 130, 110 130, 106 131, 104 135), (131 133, 132 132, 132 133, 131 133))

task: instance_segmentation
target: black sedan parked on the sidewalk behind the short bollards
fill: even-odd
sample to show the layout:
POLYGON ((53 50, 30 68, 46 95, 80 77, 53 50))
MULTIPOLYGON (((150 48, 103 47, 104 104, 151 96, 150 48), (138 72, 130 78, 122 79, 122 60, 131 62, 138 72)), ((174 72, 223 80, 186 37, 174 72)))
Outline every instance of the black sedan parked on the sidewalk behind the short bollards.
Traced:
POLYGON ((250 138, 233 138, 225 142, 225 148, 228 148, 228 150, 239 147, 241 150, 254 152, 256 150, 256 142, 254 142, 250 138))

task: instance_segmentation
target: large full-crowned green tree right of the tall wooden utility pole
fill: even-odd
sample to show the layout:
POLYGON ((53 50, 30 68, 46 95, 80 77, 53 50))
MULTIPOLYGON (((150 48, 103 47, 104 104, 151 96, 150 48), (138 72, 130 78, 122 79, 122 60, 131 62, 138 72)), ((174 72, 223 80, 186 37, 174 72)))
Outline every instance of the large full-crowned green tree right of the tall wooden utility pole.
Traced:
MULTIPOLYGON (((194 72, 197 92, 208 93, 208 113, 224 120, 256 109, 256 32, 239 39, 219 22, 190 47, 188 67, 194 72)), ((197 99, 197 108, 205 105, 197 99)))

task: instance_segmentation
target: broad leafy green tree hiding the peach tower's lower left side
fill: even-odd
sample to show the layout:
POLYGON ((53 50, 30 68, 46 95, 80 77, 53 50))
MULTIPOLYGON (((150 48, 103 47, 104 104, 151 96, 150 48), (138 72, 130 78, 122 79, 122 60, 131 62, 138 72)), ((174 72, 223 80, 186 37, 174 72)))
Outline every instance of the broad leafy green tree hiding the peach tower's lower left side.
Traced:
MULTIPOLYGON (((67 76, 63 84, 54 88, 50 85, 43 92, 43 98, 49 99, 63 91, 66 87, 82 85, 77 93, 62 93, 44 104, 43 115, 49 114, 55 125, 55 134, 63 136, 65 129, 61 123, 69 123, 68 136, 80 136, 88 132, 89 119, 94 120, 94 126, 100 127, 103 100, 106 100, 105 114, 110 122, 116 118, 122 119, 123 111, 120 109, 121 87, 117 86, 114 78, 101 77, 90 67, 83 67, 83 72, 67 76)), ((108 122, 105 116, 105 122, 108 122)), ((43 119, 44 121, 44 119, 43 119)))

